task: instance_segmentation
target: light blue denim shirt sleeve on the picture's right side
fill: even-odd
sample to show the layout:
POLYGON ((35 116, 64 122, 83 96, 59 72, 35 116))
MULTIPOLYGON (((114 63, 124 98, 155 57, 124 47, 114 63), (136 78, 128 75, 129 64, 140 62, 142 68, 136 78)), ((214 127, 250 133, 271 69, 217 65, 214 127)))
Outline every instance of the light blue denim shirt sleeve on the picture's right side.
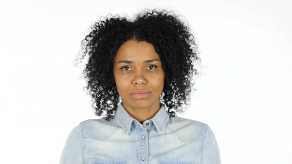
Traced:
POLYGON ((219 147, 216 137, 209 126, 207 126, 202 148, 201 164, 221 164, 219 147))

